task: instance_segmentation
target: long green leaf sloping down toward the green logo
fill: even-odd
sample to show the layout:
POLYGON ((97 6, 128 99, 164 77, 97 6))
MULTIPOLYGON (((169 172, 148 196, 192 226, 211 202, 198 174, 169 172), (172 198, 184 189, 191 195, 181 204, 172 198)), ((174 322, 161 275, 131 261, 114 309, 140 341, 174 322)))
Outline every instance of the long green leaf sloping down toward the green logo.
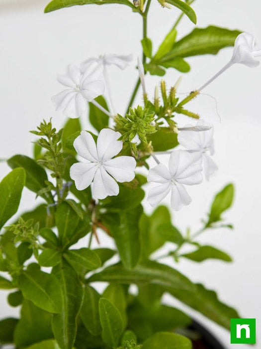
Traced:
POLYGON ((179 301, 197 310, 215 323, 230 329, 230 319, 240 318, 235 309, 220 302, 214 291, 206 289, 201 284, 195 284, 194 291, 169 291, 179 301))

